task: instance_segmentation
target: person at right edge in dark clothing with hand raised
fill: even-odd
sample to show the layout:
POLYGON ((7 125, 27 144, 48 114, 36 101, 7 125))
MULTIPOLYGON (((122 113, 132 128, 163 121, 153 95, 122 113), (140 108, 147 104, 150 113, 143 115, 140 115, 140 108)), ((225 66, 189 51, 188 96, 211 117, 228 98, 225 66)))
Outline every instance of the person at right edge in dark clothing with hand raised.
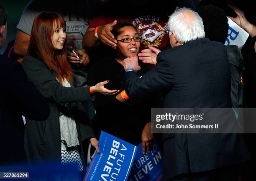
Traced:
MULTIPOLYGON (((246 107, 250 109, 244 110, 244 129, 247 133, 255 133, 256 129, 256 26, 250 23, 243 11, 234 6, 230 6, 236 13, 236 17, 229 17, 235 23, 237 23, 241 28, 243 28, 250 37, 246 41, 242 48, 242 54, 245 63, 244 84, 245 84, 245 102, 246 107)), ((255 20, 255 18, 254 18, 255 20)), ((251 21, 251 20, 250 20, 251 21)), ((255 22, 255 21, 254 21, 255 22)), ((255 170, 256 170, 256 148, 254 145, 256 135, 255 134, 245 134, 246 143, 248 149, 251 153, 251 160, 244 164, 243 170, 241 171, 242 181, 253 181, 255 180, 255 170)))

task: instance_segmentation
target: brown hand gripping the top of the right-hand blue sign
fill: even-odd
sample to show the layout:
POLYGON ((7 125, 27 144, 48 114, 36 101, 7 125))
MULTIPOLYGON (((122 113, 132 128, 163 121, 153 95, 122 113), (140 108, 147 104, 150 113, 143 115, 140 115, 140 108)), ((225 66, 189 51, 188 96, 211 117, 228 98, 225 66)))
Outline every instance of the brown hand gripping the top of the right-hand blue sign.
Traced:
POLYGON ((151 152, 152 143, 154 140, 154 135, 151 133, 151 122, 148 122, 141 134, 141 140, 142 140, 142 152, 143 154, 146 154, 146 150, 148 153, 151 152))

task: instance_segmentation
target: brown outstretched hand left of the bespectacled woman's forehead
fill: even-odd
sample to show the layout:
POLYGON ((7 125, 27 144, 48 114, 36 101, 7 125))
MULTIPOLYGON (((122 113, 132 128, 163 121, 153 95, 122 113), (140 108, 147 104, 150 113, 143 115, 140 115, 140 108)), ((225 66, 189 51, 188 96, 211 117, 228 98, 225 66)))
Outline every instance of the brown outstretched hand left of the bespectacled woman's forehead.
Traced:
POLYGON ((99 26, 97 30, 97 35, 100 38, 100 41, 111 46, 112 48, 116 48, 117 40, 115 36, 111 33, 113 27, 117 24, 117 20, 113 21, 112 23, 108 23, 103 26, 99 26))

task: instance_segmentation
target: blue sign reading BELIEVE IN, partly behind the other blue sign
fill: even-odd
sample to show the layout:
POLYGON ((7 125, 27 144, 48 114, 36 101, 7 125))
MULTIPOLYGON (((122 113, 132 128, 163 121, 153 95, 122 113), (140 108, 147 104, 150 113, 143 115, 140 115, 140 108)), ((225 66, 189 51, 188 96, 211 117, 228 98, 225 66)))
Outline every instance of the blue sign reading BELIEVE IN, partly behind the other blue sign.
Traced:
POLYGON ((163 180, 163 156, 153 142, 151 153, 142 153, 142 143, 138 145, 128 181, 161 181, 163 180))

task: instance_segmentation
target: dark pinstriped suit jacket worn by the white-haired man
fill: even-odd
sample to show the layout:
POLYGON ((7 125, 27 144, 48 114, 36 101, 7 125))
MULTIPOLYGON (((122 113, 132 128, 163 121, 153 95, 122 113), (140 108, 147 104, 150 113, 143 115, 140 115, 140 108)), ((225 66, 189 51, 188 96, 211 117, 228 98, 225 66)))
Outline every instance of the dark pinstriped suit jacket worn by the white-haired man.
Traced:
MULTIPOLYGON (((165 108, 231 108, 230 65, 222 43, 202 38, 162 51, 151 71, 138 79, 126 73, 129 97, 164 92, 165 108)), ((207 171, 248 158, 237 134, 164 135, 164 180, 207 171)))

